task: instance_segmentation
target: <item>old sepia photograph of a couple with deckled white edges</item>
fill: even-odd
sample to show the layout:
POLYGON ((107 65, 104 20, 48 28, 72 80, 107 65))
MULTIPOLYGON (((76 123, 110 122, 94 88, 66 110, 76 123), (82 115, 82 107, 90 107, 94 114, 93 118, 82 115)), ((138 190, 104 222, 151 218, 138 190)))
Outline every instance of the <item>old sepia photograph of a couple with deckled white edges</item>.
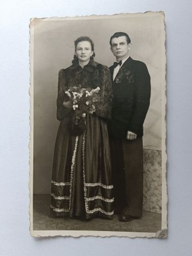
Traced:
POLYGON ((163 12, 34 18, 31 236, 167 236, 163 12))

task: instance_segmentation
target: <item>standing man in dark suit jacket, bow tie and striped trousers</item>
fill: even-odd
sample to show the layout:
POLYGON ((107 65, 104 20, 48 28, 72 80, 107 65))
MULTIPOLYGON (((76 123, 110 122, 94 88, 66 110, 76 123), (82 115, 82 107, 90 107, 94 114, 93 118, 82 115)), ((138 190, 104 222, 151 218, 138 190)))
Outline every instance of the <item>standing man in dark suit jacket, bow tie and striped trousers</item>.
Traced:
POLYGON ((143 207, 143 122, 150 104, 150 75, 145 63, 129 56, 131 40, 124 32, 110 38, 116 57, 109 68, 113 110, 109 124, 115 211, 120 221, 140 218, 143 207))

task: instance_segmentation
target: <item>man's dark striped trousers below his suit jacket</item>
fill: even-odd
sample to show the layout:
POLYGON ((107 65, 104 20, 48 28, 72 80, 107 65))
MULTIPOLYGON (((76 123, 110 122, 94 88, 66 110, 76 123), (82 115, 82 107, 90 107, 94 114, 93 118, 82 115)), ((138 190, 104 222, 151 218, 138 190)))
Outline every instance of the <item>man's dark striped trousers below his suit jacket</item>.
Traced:
POLYGON ((140 217, 143 208, 143 140, 110 138, 115 213, 140 217))

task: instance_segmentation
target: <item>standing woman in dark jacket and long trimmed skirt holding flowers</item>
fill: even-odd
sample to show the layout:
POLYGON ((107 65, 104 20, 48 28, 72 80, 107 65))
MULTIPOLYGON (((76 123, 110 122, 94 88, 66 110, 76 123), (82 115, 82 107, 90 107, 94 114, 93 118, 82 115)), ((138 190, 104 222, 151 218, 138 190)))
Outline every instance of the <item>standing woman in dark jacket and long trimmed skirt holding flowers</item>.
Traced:
POLYGON ((113 216, 107 127, 111 118, 111 77, 108 67, 95 62, 94 56, 92 40, 81 36, 75 41, 72 65, 59 72, 60 127, 51 182, 51 212, 55 217, 89 220, 113 216))

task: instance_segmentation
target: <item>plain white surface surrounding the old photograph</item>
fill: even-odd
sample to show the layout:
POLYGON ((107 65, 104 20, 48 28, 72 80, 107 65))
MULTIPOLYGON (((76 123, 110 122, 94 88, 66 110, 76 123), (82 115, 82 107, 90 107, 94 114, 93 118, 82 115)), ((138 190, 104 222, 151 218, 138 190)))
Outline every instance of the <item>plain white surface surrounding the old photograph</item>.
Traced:
POLYGON ((190 0, 0 1, 0 255, 191 255, 191 7, 190 0), (31 237, 29 19, 147 10, 166 16, 168 239, 31 237))

